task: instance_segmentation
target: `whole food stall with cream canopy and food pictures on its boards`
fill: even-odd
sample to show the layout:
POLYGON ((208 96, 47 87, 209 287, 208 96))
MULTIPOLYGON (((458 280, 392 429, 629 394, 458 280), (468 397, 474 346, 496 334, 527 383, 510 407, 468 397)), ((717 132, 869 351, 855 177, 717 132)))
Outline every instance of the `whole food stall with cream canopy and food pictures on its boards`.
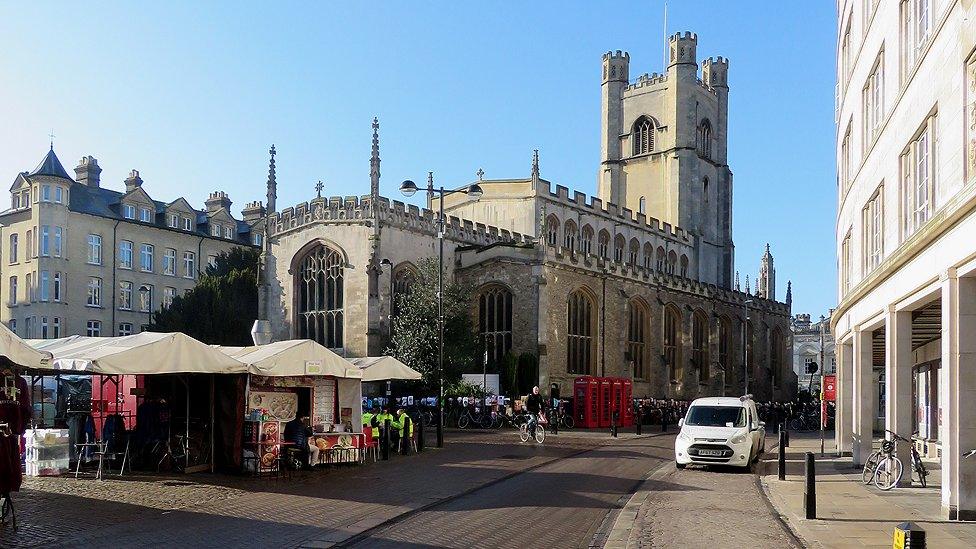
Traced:
POLYGON ((358 368, 307 339, 217 348, 248 367, 242 441, 245 471, 280 470, 291 438, 286 432, 294 434, 295 429, 307 431, 307 439, 297 438, 314 445, 292 446, 292 453, 301 456, 296 459, 321 463, 361 459, 362 374, 358 368))

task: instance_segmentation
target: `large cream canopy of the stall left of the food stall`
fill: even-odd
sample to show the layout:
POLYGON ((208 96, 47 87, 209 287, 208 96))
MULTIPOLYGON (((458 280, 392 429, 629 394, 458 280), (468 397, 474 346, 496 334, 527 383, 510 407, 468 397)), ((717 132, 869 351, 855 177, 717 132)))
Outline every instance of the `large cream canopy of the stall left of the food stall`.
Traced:
POLYGON ((69 336, 27 343, 53 355, 42 369, 88 374, 237 374, 247 367, 180 333, 142 332, 120 337, 69 336))

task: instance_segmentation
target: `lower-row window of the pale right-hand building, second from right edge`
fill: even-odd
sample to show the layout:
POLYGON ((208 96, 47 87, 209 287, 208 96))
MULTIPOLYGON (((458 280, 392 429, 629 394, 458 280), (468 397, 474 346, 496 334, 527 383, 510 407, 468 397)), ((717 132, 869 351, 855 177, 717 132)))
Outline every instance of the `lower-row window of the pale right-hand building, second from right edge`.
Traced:
POLYGON ((908 238, 932 216, 934 202, 935 156, 932 134, 935 117, 925 121, 921 131, 901 155, 902 219, 904 238, 908 238))

